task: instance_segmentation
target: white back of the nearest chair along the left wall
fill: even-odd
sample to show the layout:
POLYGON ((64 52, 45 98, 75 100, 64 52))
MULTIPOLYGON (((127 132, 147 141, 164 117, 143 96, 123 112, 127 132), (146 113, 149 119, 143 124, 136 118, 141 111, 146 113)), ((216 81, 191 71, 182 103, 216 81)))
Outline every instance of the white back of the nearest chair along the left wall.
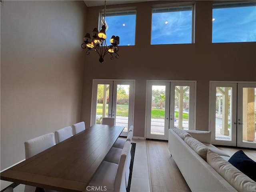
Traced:
POLYGON ((54 134, 48 133, 24 142, 26 159, 55 145, 54 134))

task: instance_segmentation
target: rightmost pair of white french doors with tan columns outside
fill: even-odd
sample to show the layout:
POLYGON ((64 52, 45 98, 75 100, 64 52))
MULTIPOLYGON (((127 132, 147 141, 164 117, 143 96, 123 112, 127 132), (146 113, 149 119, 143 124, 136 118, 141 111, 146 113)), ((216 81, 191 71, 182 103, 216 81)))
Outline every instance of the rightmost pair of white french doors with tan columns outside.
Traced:
POLYGON ((212 144, 256 148, 256 83, 210 82, 212 144))

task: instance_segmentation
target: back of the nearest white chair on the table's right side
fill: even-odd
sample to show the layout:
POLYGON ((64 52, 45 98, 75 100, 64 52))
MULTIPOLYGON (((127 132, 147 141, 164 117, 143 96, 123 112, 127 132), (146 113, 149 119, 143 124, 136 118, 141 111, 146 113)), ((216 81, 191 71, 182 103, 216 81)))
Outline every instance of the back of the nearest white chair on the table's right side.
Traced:
POLYGON ((114 182, 114 191, 126 191, 125 184, 125 171, 126 164, 128 163, 128 153, 130 151, 130 141, 126 141, 124 144, 124 148, 121 153, 120 160, 118 162, 118 169, 116 172, 116 178, 114 182))

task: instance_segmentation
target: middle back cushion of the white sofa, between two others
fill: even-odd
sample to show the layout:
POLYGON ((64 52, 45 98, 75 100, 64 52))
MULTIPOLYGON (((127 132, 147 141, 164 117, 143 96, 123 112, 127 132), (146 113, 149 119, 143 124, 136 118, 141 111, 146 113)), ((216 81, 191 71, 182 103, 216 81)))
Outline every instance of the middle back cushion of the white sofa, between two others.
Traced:
POLYGON ((204 144, 192 137, 185 137, 185 142, 206 161, 208 148, 204 144))

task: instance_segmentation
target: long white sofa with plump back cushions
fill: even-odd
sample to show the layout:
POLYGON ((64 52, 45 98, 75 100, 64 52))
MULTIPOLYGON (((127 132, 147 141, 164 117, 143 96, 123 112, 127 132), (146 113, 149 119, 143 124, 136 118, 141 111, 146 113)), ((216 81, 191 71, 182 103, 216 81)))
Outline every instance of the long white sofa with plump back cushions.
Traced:
POLYGON ((210 144, 210 132, 189 134, 178 128, 174 130, 169 130, 168 148, 192 192, 256 191, 256 182, 234 166, 230 168, 228 155, 210 144), (195 138, 202 138, 205 145, 195 138))

